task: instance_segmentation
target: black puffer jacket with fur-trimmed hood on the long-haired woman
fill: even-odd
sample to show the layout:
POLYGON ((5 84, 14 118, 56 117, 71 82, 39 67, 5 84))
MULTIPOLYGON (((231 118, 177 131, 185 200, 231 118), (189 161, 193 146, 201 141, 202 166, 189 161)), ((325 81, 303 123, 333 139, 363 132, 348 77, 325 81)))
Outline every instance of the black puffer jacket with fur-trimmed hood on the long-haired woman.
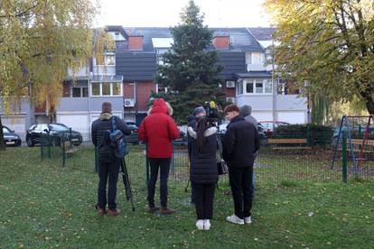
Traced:
POLYGON ((192 127, 188 128, 191 135, 191 169, 190 180, 194 183, 214 183, 218 180, 217 171, 217 128, 210 127, 205 131, 202 151, 199 152, 196 133, 192 127))

